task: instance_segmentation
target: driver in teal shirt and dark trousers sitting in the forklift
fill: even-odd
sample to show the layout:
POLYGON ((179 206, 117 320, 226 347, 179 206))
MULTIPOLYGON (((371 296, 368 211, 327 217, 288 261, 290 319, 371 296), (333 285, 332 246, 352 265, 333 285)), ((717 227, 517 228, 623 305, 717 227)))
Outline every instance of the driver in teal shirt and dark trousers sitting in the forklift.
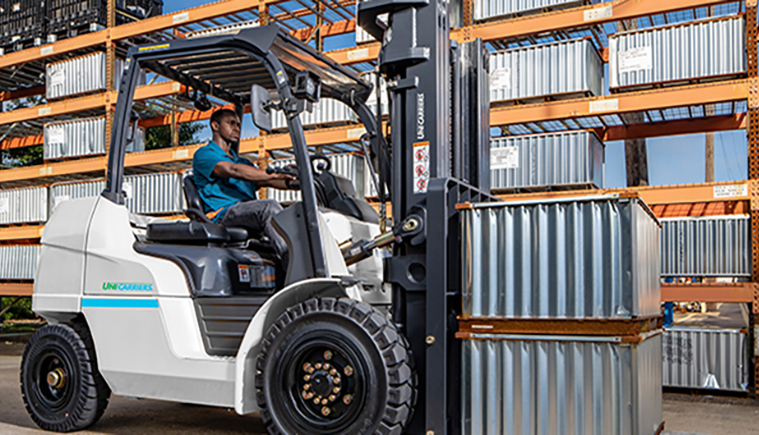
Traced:
POLYGON ((284 239, 274 230, 271 218, 282 211, 273 199, 258 199, 261 187, 288 189, 289 174, 267 174, 250 160, 235 153, 240 140, 240 118, 230 109, 211 115, 213 138, 195 152, 192 171, 209 219, 230 227, 242 227, 254 237, 265 234, 287 269, 289 253, 284 239))

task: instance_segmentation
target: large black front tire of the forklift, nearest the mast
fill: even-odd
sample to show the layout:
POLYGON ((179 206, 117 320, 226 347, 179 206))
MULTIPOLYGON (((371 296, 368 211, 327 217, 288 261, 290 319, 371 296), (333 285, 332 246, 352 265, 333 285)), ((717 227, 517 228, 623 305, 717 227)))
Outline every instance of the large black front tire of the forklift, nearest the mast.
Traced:
POLYGON ((270 434, 399 435, 416 400, 412 367, 407 341, 380 311, 347 298, 311 299, 280 316, 263 340, 261 416, 270 434))

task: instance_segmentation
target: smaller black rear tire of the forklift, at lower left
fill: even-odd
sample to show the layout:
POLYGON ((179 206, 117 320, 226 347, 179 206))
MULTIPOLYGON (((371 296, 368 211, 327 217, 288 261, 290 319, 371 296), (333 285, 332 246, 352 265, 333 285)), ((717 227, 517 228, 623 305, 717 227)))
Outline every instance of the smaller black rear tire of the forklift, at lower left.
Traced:
POLYGON ((82 430, 103 415, 111 390, 86 326, 46 325, 34 333, 21 360, 21 394, 44 430, 82 430))

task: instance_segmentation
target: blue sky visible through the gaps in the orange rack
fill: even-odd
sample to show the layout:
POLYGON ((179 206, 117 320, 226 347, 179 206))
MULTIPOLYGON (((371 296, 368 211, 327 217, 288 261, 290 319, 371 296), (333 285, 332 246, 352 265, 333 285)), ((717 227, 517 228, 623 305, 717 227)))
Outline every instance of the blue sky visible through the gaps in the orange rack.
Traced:
MULTIPOLYGON (((209 3, 206 0, 164 0, 164 13, 187 9, 209 3)), ((325 50, 353 46, 353 34, 325 40, 325 50)), ((249 119, 243 123, 243 137, 254 136, 255 127, 249 119)), ((210 134, 201 133, 205 140, 210 134)), ((716 181, 745 180, 748 178, 746 132, 727 131, 715 133, 714 169, 716 181)), ((651 138, 647 140, 648 173, 651 185, 702 183, 705 181, 705 135, 693 134, 651 138)), ((605 187, 626 185, 624 142, 606 143, 605 187)))

